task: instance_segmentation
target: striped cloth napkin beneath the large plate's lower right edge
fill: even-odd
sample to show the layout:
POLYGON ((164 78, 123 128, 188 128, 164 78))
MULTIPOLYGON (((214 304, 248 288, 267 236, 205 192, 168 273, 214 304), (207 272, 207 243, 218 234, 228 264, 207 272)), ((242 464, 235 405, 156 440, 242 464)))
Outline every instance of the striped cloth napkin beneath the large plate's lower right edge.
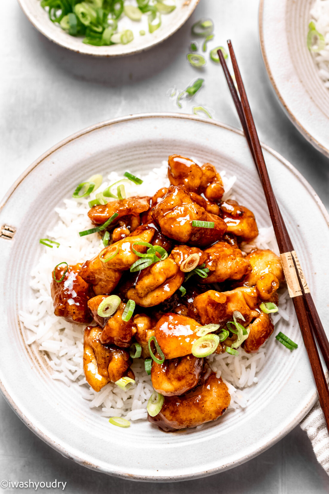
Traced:
POLYGON ((307 433, 318 462, 329 475, 329 436, 319 402, 303 418, 300 427, 307 433))

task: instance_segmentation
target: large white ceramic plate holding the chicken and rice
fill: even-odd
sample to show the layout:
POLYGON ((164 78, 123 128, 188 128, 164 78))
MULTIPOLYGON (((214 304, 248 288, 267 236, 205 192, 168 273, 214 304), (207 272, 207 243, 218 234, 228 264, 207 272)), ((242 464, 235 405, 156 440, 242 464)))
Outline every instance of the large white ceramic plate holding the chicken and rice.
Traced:
MULTIPOLYGON (((265 160, 293 245, 306 272, 320 316, 328 321, 328 218, 302 176, 263 146, 265 160)), ((200 430, 164 433, 148 422, 128 429, 108 420, 79 395, 51 379, 37 347, 27 347, 17 317, 26 307, 30 271, 42 246, 38 240, 57 221, 54 207, 70 197, 76 184, 96 172, 129 168, 147 172, 169 154, 210 162, 238 180, 234 193, 270 225, 264 195, 244 136, 238 130, 197 117, 160 114, 126 117, 89 127, 41 156, 8 192, 0 225, 16 228, 13 240, 0 238, 0 387, 12 408, 41 439, 73 460, 127 479, 182 480, 238 465, 287 434, 315 403, 316 392, 295 316, 279 323, 298 343, 292 353, 274 337, 268 357, 249 388, 244 411, 224 414, 200 430)), ((152 191, 150 191, 152 193, 152 191)))

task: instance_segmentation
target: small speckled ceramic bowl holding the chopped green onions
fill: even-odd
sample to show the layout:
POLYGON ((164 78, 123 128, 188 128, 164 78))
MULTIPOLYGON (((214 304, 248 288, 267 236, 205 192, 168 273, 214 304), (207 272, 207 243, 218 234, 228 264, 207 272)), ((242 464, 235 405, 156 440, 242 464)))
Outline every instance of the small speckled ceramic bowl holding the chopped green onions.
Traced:
POLYGON ((82 43, 82 37, 70 36, 57 24, 51 22, 48 13, 40 6, 40 0, 18 0, 18 3, 34 27, 49 40, 77 53, 111 57, 138 53, 166 40, 183 26, 199 3, 199 0, 176 0, 176 9, 168 15, 162 15, 160 28, 152 34, 148 33, 146 16, 143 16, 146 25, 125 18, 124 29, 132 29, 134 40, 128 44, 113 44, 111 46, 92 46, 82 43), (141 29, 146 31, 145 36, 139 35, 141 29))

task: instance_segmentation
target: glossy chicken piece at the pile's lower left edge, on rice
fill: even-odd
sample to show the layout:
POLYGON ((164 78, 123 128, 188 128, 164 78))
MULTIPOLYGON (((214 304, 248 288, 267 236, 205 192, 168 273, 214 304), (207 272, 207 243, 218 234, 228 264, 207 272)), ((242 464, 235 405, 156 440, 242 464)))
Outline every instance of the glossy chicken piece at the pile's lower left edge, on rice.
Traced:
POLYGON ((114 345, 102 345, 101 333, 98 326, 87 326, 83 333, 83 371, 89 386, 97 392, 121 377, 135 379, 129 369, 132 363, 129 353, 114 345))

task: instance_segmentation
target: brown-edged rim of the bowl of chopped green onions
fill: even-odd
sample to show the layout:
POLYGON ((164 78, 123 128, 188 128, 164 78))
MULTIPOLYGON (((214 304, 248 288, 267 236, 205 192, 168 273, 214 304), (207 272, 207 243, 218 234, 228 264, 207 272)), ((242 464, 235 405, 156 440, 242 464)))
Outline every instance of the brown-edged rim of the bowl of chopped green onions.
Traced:
MULTIPOLYGON (((31 24, 35 27, 35 29, 37 29, 37 31, 39 33, 41 33, 49 41, 52 41, 53 43, 58 44, 59 46, 62 46, 62 48, 67 48, 68 50, 73 51, 74 53, 79 53, 81 55, 90 55, 90 56, 97 57, 97 58, 102 58, 102 57, 110 58, 110 57, 122 57, 122 56, 128 56, 128 55, 135 55, 136 53, 142 53, 143 51, 149 50, 153 46, 156 46, 157 44, 162 43, 163 41, 166 41, 168 38, 170 38, 172 35, 174 35, 183 26, 183 24, 185 24, 185 22, 189 19, 189 17, 192 15, 194 10, 196 9, 200 0, 187 0, 187 1, 189 1, 189 3, 191 3, 192 6, 190 7, 189 3, 186 4, 186 7, 189 7, 189 9, 188 8, 186 9, 187 16, 185 16, 182 19, 182 21, 177 25, 177 27, 175 27, 172 30, 168 30, 168 32, 165 31, 159 39, 149 43, 148 45, 146 45, 142 48, 135 48, 132 51, 127 51, 127 52, 123 52, 123 53, 100 53, 99 50, 96 50, 96 48, 99 48, 98 46, 93 47, 94 51, 92 51, 91 48, 90 48, 90 51, 88 51, 88 50, 84 49, 84 46, 86 46, 86 45, 84 45, 82 43, 82 41, 81 41, 81 49, 74 48, 73 46, 70 45, 70 43, 61 42, 60 40, 57 40, 57 39, 53 38, 52 36, 50 36, 50 34, 48 34, 48 32, 47 32, 47 29, 44 29, 42 27, 42 25, 36 21, 36 19, 31 15, 31 12, 26 5, 26 0, 17 0, 17 1, 18 1, 18 4, 19 4, 22 12, 27 17, 27 19, 31 22, 31 24)), ((41 8, 41 6, 40 6, 40 8, 41 8)), ((91 46, 91 45, 87 45, 87 46, 91 46)))

